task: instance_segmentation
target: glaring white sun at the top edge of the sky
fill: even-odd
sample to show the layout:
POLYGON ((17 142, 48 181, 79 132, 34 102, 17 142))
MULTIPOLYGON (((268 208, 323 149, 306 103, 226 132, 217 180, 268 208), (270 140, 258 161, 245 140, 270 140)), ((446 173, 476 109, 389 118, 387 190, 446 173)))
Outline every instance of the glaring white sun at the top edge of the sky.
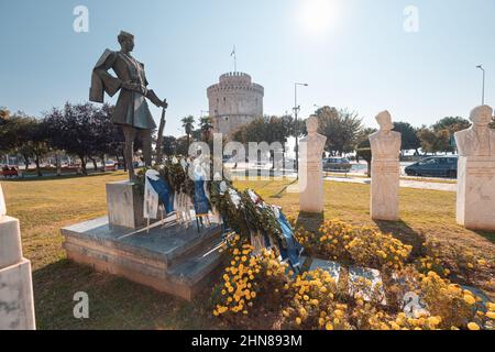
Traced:
POLYGON ((333 0, 302 0, 298 16, 304 29, 312 35, 326 34, 334 19, 333 0))

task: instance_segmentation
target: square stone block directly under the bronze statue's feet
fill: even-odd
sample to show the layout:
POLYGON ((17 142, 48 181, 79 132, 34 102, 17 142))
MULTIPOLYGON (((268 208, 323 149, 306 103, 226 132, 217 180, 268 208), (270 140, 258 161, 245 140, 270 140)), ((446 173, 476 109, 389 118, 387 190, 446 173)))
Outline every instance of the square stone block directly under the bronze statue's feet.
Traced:
POLYGON ((107 206, 110 226, 129 229, 144 226, 143 196, 133 182, 107 184, 107 206))

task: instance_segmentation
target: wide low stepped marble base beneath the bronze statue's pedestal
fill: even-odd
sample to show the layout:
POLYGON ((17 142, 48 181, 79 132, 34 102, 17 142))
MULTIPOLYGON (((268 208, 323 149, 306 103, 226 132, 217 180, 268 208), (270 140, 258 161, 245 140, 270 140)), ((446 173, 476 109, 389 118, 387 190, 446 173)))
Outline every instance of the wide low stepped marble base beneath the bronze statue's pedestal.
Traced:
POLYGON ((196 222, 189 227, 169 222, 136 233, 100 218, 62 233, 69 260, 188 300, 217 278, 212 272, 222 262, 222 255, 212 251, 221 242, 219 226, 198 232, 196 222))

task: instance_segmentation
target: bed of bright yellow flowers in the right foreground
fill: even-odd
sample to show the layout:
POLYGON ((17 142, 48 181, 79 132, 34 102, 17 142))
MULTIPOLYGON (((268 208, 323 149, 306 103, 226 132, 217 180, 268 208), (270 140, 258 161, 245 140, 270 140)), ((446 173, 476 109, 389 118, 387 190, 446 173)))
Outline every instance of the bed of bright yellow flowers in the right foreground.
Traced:
POLYGON ((341 221, 326 221, 317 234, 299 229, 296 235, 310 249, 310 255, 317 252, 341 263, 389 268, 382 272, 387 306, 382 305, 380 289, 353 290, 366 292, 366 301, 360 294, 350 294, 345 285, 338 287, 323 270, 294 277, 287 264, 279 262, 278 253, 264 250, 254 255, 253 246, 235 237, 229 250, 230 263, 215 290, 213 315, 239 323, 239 317, 253 319, 250 317, 264 309, 279 317, 283 328, 305 330, 495 328, 495 304, 484 307, 479 297, 442 278, 448 270, 431 249, 426 257, 406 264, 410 246, 389 234, 341 221), (424 309, 407 310, 406 295, 415 295, 424 309))

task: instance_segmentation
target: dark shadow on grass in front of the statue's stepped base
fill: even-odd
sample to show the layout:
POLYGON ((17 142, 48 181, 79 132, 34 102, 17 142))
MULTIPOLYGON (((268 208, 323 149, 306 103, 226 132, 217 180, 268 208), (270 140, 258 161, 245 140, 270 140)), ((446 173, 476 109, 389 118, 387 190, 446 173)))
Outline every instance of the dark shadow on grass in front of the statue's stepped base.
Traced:
MULTIPOLYGON (((33 272, 37 328, 59 329, 216 329, 206 290, 193 302, 118 276, 61 260, 33 272), (74 317, 74 295, 87 293, 89 318, 74 317)), ((211 288, 210 288, 211 289, 211 288)))

